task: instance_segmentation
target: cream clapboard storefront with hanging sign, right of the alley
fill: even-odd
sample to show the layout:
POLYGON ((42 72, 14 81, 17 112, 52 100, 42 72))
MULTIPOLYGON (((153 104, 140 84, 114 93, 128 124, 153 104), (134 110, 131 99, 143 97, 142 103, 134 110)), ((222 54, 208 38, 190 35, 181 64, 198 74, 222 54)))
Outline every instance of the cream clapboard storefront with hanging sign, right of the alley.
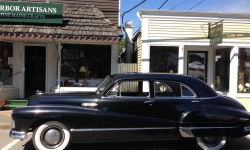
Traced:
POLYGON ((139 14, 141 72, 188 74, 250 108, 250 14, 164 10, 139 14))

